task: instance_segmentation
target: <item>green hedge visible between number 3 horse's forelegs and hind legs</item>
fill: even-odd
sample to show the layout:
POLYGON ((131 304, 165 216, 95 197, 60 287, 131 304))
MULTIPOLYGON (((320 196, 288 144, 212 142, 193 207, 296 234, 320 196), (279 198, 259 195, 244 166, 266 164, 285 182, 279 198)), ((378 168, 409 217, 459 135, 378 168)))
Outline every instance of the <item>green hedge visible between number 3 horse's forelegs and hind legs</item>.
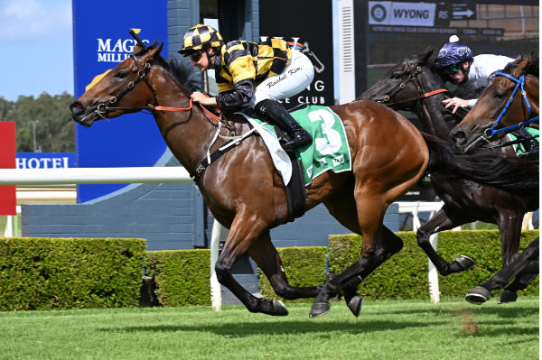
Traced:
MULTIPOLYGON (((314 286, 325 280, 325 262, 327 249, 323 246, 282 247, 276 249, 282 259, 286 277, 294 287, 314 286)), ((266 275, 257 269, 260 293, 276 298, 275 291, 267 281, 266 275)), ((285 300, 287 302, 312 302, 313 299, 285 300)))

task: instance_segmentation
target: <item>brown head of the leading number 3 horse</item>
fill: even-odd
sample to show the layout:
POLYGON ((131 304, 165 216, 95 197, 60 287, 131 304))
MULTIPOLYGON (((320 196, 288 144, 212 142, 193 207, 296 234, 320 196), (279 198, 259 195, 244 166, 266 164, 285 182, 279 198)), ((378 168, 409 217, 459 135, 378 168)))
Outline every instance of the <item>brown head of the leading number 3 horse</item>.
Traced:
POLYGON ((141 111, 156 103, 156 89, 149 77, 154 60, 160 58, 164 43, 135 47, 135 52, 114 69, 95 78, 87 91, 71 105, 73 120, 90 127, 96 120, 141 111))

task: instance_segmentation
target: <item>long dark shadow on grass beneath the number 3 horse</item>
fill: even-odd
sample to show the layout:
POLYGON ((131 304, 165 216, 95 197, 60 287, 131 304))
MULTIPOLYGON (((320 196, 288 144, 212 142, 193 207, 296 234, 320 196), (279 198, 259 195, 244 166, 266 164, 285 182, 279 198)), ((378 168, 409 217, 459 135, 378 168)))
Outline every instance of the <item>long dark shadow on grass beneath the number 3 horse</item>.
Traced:
POLYGON ((295 335, 295 334, 318 334, 329 336, 330 331, 341 331, 350 334, 373 333, 375 331, 404 330, 406 328, 425 328, 428 326, 440 326, 444 321, 419 322, 396 322, 396 321, 364 321, 359 323, 347 323, 340 321, 317 322, 308 321, 280 321, 265 323, 238 323, 224 322, 213 325, 175 325, 175 326, 141 326, 126 328, 100 328, 104 332, 210 332, 221 337, 253 337, 255 335, 295 335))

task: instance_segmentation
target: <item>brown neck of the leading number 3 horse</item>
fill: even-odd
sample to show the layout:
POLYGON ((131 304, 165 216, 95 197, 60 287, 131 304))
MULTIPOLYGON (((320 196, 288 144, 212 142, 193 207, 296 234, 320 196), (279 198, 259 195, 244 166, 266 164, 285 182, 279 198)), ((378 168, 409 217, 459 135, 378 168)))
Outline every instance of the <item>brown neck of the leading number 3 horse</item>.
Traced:
MULTIPOLYGON (((190 95, 163 68, 151 78, 156 85, 159 106, 190 107, 190 95)), ((217 124, 194 103, 186 112, 154 111, 154 120, 173 155, 187 171, 194 171, 206 156, 217 124)))

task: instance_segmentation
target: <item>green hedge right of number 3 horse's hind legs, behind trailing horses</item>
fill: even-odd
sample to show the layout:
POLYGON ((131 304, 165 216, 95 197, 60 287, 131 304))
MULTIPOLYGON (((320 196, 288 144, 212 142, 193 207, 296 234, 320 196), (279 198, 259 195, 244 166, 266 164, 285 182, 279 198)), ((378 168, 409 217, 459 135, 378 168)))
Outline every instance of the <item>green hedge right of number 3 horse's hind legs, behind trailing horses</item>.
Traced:
MULTIPOLYGON (((361 283, 360 294, 368 299, 428 299, 428 260, 417 245, 416 233, 397 233, 405 243, 403 249, 361 283)), ((538 236, 538 231, 524 231, 521 235, 522 251, 538 236)), ((360 254, 360 235, 330 236, 329 269, 341 272, 360 254)), ((474 265, 465 272, 446 277, 439 274, 439 290, 444 297, 463 297, 474 286, 485 282, 501 269, 500 235, 497 230, 444 231, 438 235, 437 252, 450 262, 459 254, 474 259, 474 265)), ((538 279, 521 295, 538 295, 538 279)))

